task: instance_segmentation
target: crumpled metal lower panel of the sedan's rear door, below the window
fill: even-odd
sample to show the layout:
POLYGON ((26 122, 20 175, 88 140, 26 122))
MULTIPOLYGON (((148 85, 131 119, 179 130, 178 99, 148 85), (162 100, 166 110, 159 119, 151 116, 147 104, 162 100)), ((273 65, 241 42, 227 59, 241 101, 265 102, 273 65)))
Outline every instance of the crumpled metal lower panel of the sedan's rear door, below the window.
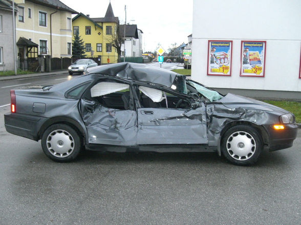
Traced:
POLYGON ((95 105, 93 112, 84 110, 83 121, 90 144, 136 145, 137 114, 131 110, 108 109, 95 105))

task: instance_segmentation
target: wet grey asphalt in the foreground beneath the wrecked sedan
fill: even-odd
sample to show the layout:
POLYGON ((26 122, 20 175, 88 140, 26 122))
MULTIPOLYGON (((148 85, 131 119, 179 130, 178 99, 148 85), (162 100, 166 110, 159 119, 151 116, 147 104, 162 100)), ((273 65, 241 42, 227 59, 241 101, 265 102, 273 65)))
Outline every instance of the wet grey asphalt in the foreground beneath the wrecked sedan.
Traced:
POLYGON ((0 224, 300 224, 300 130, 293 147, 250 167, 214 153, 85 152, 55 163, 3 119, 0 135, 0 224))

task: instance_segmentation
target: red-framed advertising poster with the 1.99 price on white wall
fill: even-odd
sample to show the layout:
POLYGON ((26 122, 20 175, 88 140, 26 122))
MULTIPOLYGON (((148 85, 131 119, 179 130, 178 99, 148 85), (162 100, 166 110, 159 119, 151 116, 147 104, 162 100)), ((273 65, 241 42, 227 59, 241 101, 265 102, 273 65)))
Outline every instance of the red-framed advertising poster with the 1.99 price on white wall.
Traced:
POLYGON ((207 75, 231 76, 232 41, 208 41, 207 75))

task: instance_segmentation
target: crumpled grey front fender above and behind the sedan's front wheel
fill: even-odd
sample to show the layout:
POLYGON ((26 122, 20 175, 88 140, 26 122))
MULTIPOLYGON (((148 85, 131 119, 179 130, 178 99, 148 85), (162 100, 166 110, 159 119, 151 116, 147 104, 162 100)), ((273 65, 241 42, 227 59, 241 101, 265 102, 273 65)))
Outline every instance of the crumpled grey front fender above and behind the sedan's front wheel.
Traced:
POLYGON ((268 111, 245 108, 228 108, 222 104, 207 106, 209 146, 217 146, 222 129, 232 121, 250 121, 264 124, 270 119, 268 111))

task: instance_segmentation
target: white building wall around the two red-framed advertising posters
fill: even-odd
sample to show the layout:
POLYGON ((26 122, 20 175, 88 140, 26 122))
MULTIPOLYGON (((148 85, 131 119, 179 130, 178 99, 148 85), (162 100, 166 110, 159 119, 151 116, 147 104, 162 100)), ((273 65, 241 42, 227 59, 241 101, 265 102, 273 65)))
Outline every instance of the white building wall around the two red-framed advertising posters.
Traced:
POLYGON ((216 88, 301 91, 300 10, 299 0, 193 1, 192 79, 216 88), (208 40, 233 41, 231 77, 207 76, 208 40), (265 77, 240 77, 242 40, 266 41, 265 77))

